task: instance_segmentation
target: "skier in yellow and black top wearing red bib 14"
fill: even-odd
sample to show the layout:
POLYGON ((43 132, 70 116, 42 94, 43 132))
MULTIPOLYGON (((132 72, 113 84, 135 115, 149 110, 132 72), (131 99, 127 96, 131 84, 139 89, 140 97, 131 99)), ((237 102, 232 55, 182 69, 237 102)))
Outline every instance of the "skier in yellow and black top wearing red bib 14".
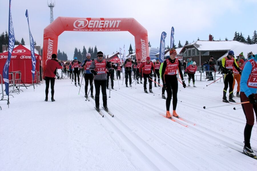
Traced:
POLYGON ((233 95, 233 66, 236 70, 238 70, 239 74, 242 73, 242 71, 238 68, 238 65, 236 63, 236 59, 234 58, 234 52, 230 50, 228 52, 228 56, 222 58, 222 73, 224 74, 224 89, 223 89, 223 102, 229 103, 236 102, 234 101, 232 95, 233 95), (229 101, 227 100, 226 93, 229 85, 229 101))

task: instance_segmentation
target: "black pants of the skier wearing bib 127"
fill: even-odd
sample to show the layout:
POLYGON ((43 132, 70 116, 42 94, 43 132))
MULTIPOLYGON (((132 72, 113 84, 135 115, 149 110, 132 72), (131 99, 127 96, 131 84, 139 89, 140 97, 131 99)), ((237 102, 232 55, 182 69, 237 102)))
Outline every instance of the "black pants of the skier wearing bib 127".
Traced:
POLYGON ((95 81, 95 105, 99 106, 99 95, 100 95, 100 86, 102 88, 103 95, 103 105, 107 105, 107 95, 106 95, 106 82, 107 80, 94 80, 95 81))

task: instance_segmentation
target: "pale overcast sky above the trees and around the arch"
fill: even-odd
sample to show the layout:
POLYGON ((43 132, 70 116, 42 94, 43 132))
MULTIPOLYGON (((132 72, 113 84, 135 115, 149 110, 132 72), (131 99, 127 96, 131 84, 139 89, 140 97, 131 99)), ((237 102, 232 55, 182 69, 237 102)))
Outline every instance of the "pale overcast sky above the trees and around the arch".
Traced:
MULTIPOLYGON (((50 3, 51 0, 48 0, 50 3)), ((53 1, 52 1, 53 2, 53 1)), ((1 0, 0 31, 8 31, 9 1, 1 0)), ((160 46, 160 35, 167 33, 165 46, 170 46, 170 32, 173 26, 176 46, 178 41, 232 40, 234 32, 242 32, 246 38, 257 30, 257 0, 55 0, 54 19, 61 17, 91 18, 134 18, 148 32, 152 47, 160 46)), ((24 38, 29 45, 29 30, 25 11, 28 9, 31 33, 37 45, 43 46, 43 30, 50 24, 50 8, 47 0, 12 0, 11 13, 16 40, 24 38)), ((123 48, 126 54, 129 45, 134 49, 134 36, 129 32, 68 32, 59 36, 58 49, 73 58, 74 49, 82 51, 83 46, 98 48, 98 51, 112 54, 123 48)))

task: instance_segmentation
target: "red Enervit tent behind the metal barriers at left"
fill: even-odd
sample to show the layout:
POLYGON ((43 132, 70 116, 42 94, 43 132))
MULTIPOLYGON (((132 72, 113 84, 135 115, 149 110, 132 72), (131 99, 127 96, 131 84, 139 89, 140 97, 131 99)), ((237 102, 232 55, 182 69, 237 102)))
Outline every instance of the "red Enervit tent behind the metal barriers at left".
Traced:
MULTIPOLYGON (((8 51, 0 53, 0 74, 3 76, 3 67, 8 58, 8 51)), ((36 69, 39 71, 39 61, 41 56, 35 53, 36 58, 36 69)), ((24 84, 32 84, 32 62, 31 62, 31 51, 21 44, 13 49, 11 62, 9 66, 9 72, 21 71, 21 81, 24 84)), ((35 72, 35 76, 36 76, 35 72)), ((11 77, 9 77, 11 79, 11 77)), ((35 79, 34 79, 35 80, 35 79)))

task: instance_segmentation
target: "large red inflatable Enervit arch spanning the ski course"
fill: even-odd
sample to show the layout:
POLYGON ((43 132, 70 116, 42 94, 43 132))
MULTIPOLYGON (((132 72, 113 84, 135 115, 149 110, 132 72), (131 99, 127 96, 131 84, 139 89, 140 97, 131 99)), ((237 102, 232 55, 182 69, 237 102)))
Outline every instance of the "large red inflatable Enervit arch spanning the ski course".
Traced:
POLYGON ((136 58, 146 61, 149 56, 147 30, 133 18, 58 17, 44 29, 43 71, 46 61, 57 54, 58 36, 64 31, 128 31, 135 37, 136 58))

